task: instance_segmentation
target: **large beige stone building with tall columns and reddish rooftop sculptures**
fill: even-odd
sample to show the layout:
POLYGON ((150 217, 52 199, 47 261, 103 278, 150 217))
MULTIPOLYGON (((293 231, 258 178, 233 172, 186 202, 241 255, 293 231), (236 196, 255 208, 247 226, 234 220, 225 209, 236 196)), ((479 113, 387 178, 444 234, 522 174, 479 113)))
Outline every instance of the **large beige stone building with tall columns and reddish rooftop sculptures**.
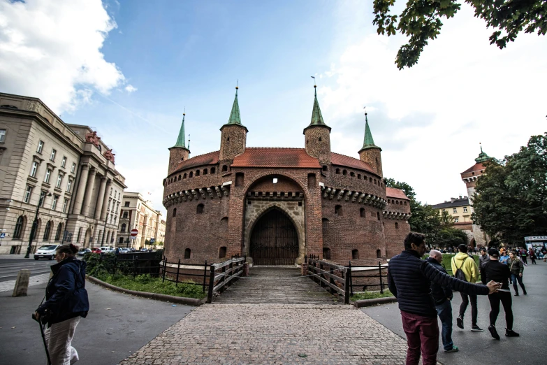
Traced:
POLYGON ((96 132, 66 124, 40 99, 0 93, 0 253, 48 243, 110 245, 124 177, 96 132), (105 234, 106 232, 106 234, 105 234))

